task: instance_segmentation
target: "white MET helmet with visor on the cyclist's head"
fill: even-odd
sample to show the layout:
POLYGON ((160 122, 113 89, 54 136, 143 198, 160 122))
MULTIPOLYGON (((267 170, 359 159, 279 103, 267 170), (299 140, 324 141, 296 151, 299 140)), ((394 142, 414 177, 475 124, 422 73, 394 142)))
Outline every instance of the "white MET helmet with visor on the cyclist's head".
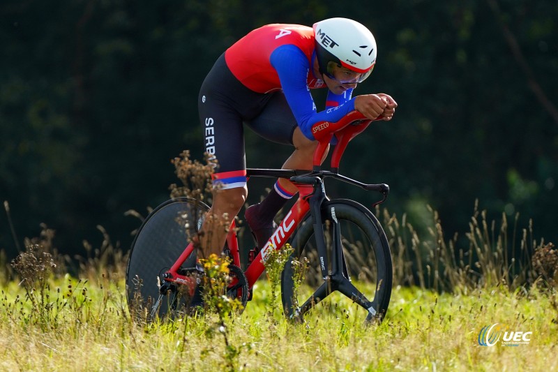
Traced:
POLYGON ((329 18, 314 24, 315 49, 319 72, 334 78, 333 66, 341 65, 360 73, 365 80, 376 63, 376 40, 359 22, 329 18))

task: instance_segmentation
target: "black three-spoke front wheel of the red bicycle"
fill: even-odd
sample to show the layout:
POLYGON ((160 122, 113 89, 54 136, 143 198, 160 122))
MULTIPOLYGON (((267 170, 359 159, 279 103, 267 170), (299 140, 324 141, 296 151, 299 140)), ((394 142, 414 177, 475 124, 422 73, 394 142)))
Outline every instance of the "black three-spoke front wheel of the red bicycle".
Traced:
MULTIPOLYGON (((382 322, 384 315, 389 306, 391 298, 391 287, 393 282, 393 268, 391 262, 391 251, 386 239, 386 234, 382 229, 377 218, 363 205, 352 200, 331 200, 324 202, 322 206, 322 224, 324 225, 324 235, 326 235, 326 245, 328 246, 328 255, 331 255, 331 244, 327 243, 331 239, 334 220, 340 224, 342 236, 343 264, 342 269, 344 275, 353 276, 359 280, 358 283, 351 283, 357 287, 367 299, 372 302, 374 311, 362 308, 362 310, 354 311, 357 318, 361 312, 365 314, 365 322, 382 322), (332 213, 334 211, 334 213, 332 213), (333 216, 332 216, 333 214, 333 216), (359 236, 356 236, 359 235, 359 236), (328 238, 329 236, 329 238, 328 238), (370 282, 365 284, 364 282, 370 282), (373 285, 372 285, 373 284, 373 285)), ((289 319, 302 322, 304 315, 310 311, 314 302, 327 304, 326 298, 313 299, 315 291, 320 285, 323 285, 322 271, 320 262, 317 260, 317 250, 315 248, 314 230, 312 217, 308 215, 301 223, 292 237, 290 244, 294 248, 291 258, 285 264, 285 269, 281 276, 281 299, 285 316, 289 319), (312 256, 315 257, 312 257, 312 256), (293 278, 295 270, 293 268, 293 260, 301 260, 302 257, 308 258, 308 272, 303 279, 303 286, 310 287, 312 295, 296 295, 295 280, 293 278), (296 298, 295 298, 296 297, 296 298), (307 298, 308 297, 308 298, 307 298), (310 308, 300 308, 300 300, 311 302, 310 308), (323 301, 322 301, 323 300, 323 301)), ((328 260, 331 262, 331 260, 328 260)), ((331 269, 331 267, 329 268, 331 269)), ((331 271, 330 271, 331 274, 331 271)), ((329 290, 327 290, 329 292, 329 290)), ((329 293, 324 297, 329 297, 329 293)), ((348 297, 348 296, 347 296, 348 297)), ((332 301, 335 301, 333 299, 332 301)), ((338 303, 329 304, 332 311, 347 313, 347 306, 342 308, 338 303)), ((356 306, 360 308, 361 306, 356 306)), ((342 315, 340 313, 337 316, 342 315)), ((345 314, 347 315, 347 314, 345 314)))

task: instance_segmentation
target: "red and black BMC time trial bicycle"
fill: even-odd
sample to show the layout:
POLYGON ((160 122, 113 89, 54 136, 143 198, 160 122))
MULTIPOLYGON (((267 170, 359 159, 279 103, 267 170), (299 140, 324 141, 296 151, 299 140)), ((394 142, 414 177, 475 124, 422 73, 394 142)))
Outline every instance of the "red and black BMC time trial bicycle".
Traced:
MULTIPOLYGON (((227 295, 238 298, 243 306, 252 298, 252 289, 265 270, 273 249, 289 243, 294 251, 281 275, 282 307, 287 318, 303 321, 304 315, 333 292, 348 297, 359 308, 365 322, 381 322, 389 306, 392 287, 391 251, 376 216, 358 202, 329 200, 324 179, 331 178, 377 191, 384 202, 389 194, 386 184, 363 184, 339 174, 339 163, 347 144, 371 123, 360 112, 349 112, 337 122, 324 122, 313 128, 319 141, 312 170, 246 170, 248 177, 282 177, 299 189, 299 198, 285 214, 261 251, 250 251, 246 269, 241 269, 236 222, 233 221, 225 251, 232 258, 229 265, 231 283, 227 295), (335 135, 337 143, 331 154, 331 170, 321 163, 335 135), (294 260, 307 258, 308 272, 304 284, 295 283, 294 260), (298 288, 310 288, 308 290, 298 288)), ((193 278, 202 275, 196 265, 195 244, 209 206, 192 198, 175 198, 164 202, 146 217, 130 250, 126 270, 129 306, 144 306, 151 316, 163 316, 188 308, 193 295, 193 278), (185 248, 186 247, 186 248, 185 248), (189 285, 189 295, 181 287, 189 285)), ((188 291, 186 291, 188 292, 188 291)), ((349 302, 350 303, 350 302, 349 302)), ((334 304, 338 306, 338 303, 334 304)))

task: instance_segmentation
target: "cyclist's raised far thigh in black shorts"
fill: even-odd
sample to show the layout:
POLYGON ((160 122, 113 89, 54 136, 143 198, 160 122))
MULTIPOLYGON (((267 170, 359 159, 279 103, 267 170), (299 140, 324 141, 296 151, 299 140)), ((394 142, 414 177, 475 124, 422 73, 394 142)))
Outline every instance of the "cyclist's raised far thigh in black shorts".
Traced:
POLYGON ((271 94, 262 112, 246 121, 246 125, 266 140, 280 144, 293 144, 293 133, 298 127, 282 91, 271 94))

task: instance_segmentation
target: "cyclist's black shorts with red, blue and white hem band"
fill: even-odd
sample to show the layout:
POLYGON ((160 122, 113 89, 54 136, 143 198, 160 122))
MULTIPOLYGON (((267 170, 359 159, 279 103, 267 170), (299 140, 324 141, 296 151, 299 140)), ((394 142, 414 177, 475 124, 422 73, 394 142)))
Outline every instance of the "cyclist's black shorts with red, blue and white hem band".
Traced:
POLYGON ((198 111, 205 151, 210 159, 216 158, 214 179, 222 188, 246 185, 243 124, 266 140, 291 145, 297 126, 283 92, 261 94, 248 89, 232 75, 225 54, 202 84, 198 111))

